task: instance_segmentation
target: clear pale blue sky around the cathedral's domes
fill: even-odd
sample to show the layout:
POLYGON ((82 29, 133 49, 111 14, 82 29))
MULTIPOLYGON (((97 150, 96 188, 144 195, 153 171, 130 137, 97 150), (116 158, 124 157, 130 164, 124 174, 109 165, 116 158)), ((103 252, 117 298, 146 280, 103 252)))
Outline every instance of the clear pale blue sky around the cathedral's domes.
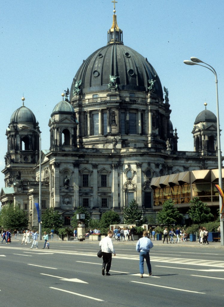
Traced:
MULTIPOLYGON (((216 115, 214 75, 206 68, 183 64, 191 56, 217 72, 220 127, 224 129, 223 11, 222 0, 118 0, 116 4, 124 45, 147 57, 162 87, 169 90, 179 150, 193 151, 191 131, 205 100, 207 109, 216 115)), ((25 106, 39 122, 42 149, 49 149, 51 112, 62 100, 63 90, 70 89, 83 59, 106 45, 112 15, 111 0, 0 2, 1 170, 7 151, 6 128, 22 105, 23 93, 25 106)), ((222 135, 224 151, 223 146, 222 135)), ((2 174, 0 181, 4 186, 2 174)))

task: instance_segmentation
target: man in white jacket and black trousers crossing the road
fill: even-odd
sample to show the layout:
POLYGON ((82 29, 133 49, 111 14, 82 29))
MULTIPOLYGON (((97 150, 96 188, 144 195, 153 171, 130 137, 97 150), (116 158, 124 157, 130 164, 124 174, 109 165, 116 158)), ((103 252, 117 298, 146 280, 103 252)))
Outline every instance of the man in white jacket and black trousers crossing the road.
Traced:
POLYGON ((110 275, 109 271, 112 261, 112 253, 114 254, 114 256, 116 256, 114 246, 111 240, 112 237, 113 237, 113 231, 109 230, 107 232, 107 237, 103 238, 99 243, 99 246, 101 246, 103 254, 103 264, 102 264, 103 276, 105 275, 105 269, 106 269, 106 275, 110 275))

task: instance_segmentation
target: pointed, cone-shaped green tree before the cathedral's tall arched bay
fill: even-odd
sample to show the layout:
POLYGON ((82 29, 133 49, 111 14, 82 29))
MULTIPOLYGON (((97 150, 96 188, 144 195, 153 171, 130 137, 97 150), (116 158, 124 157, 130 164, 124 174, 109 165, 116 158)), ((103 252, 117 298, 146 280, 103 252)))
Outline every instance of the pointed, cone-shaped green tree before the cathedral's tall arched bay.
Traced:
POLYGON ((124 219, 125 223, 133 224, 138 222, 138 226, 141 226, 145 219, 142 218, 142 211, 138 209, 138 204, 136 200, 132 200, 129 202, 128 207, 124 208, 124 219))

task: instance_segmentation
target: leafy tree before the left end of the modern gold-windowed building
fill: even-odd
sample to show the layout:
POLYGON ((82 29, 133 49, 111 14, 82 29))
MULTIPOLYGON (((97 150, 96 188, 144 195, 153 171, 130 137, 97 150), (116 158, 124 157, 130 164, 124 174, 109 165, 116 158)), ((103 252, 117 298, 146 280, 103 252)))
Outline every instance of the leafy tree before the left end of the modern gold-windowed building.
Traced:
POLYGON ((172 199, 164 201, 163 208, 157 214, 157 220, 161 224, 168 225, 170 229, 170 224, 174 224, 183 218, 182 214, 174 207, 174 202, 172 199))

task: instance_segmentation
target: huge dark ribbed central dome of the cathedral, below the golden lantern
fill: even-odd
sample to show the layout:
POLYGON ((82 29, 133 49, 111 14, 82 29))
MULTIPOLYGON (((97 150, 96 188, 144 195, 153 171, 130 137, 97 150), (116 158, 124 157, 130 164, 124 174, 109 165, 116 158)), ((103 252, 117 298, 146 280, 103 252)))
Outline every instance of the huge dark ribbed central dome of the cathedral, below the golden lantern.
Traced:
POLYGON ((148 80, 156 80, 155 94, 163 99, 160 79, 148 60, 122 43, 111 43, 96 50, 83 61, 73 79, 70 100, 74 97, 75 83, 80 80, 80 89, 83 94, 108 91, 110 75, 118 76, 119 78, 116 79, 118 89, 126 91, 148 91, 148 80))

